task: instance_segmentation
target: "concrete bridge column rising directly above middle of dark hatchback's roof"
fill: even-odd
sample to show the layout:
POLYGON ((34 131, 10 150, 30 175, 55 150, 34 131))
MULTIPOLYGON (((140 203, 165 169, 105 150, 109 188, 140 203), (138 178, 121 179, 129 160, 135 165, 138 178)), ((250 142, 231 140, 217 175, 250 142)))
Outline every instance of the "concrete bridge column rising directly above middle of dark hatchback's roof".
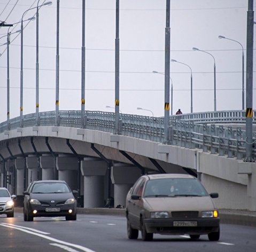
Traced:
POLYGON ((43 154, 40 157, 40 167, 42 168, 42 180, 54 179, 54 162, 52 155, 43 154))

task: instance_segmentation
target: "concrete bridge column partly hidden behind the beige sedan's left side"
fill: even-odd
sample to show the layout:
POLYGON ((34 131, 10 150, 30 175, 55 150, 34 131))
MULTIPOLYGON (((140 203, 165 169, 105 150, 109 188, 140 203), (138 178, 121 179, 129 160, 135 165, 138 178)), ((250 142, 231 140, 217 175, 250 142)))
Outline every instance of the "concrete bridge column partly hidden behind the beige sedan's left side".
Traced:
POLYGON ((126 195, 131 186, 141 176, 141 170, 125 163, 115 163, 111 169, 114 184, 114 207, 126 206, 126 195))

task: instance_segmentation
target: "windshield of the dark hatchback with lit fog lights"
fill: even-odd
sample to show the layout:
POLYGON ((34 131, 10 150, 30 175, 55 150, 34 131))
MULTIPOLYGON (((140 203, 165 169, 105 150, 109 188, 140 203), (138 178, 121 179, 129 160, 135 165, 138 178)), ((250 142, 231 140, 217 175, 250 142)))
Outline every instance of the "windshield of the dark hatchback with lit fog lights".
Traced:
POLYGON ((32 188, 32 193, 69 193, 70 190, 64 183, 38 183, 32 188))

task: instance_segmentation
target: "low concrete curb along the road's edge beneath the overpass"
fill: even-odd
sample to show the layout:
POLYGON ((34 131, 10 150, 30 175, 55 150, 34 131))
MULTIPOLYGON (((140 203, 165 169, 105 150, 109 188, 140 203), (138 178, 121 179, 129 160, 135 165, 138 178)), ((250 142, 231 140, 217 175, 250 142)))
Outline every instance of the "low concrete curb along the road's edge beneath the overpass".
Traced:
MULTIPOLYGON (((23 212, 23 208, 15 208, 15 212, 23 212)), ((126 216, 125 208, 77 208, 77 214, 90 215, 112 215, 126 216)), ((256 216, 250 214, 227 214, 220 213, 220 222, 222 224, 242 225, 256 227, 256 216)))

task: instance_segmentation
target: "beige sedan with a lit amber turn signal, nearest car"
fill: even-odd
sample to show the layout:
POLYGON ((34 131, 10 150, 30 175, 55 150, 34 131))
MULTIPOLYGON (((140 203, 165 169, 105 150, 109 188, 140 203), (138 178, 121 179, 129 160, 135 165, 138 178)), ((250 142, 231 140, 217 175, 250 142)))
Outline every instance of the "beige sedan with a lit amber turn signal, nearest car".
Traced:
POLYGON ((127 234, 151 241, 153 234, 189 234, 210 241, 220 238, 220 218, 212 198, 199 180, 185 174, 144 175, 131 187, 126 199, 127 234))

